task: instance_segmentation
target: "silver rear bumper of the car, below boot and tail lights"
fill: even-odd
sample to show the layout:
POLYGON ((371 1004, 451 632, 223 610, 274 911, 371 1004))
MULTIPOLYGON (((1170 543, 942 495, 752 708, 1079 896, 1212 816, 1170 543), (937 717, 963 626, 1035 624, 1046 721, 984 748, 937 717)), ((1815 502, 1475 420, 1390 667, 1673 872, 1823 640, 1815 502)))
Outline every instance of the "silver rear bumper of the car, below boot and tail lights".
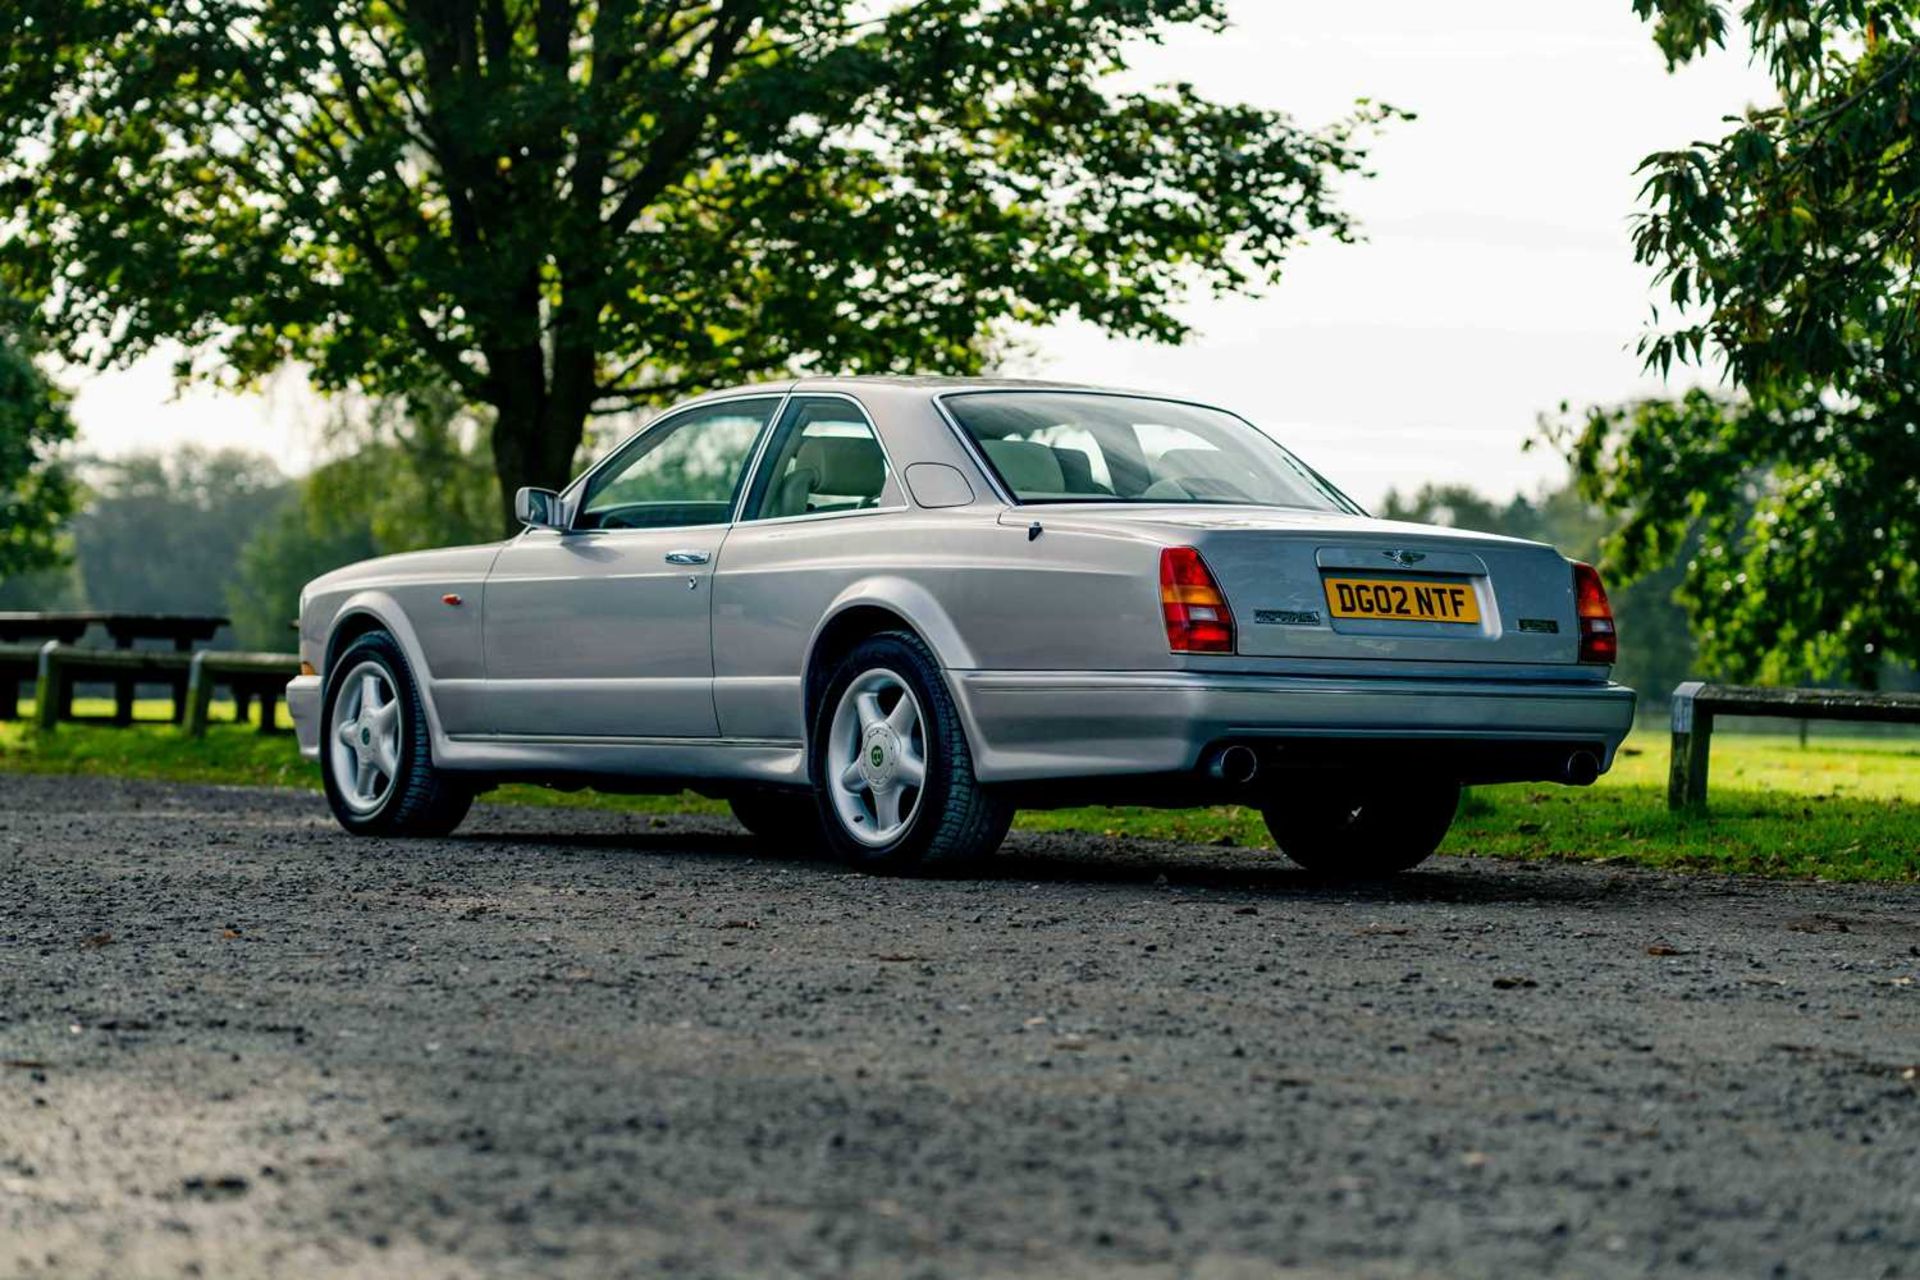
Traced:
POLYGON ((1484 681, 1194 672, 950 672, 983 783, 1183 773, 1221 743, 1304 739, 1597 748, 1634 723, 1601 681, 1484 681))

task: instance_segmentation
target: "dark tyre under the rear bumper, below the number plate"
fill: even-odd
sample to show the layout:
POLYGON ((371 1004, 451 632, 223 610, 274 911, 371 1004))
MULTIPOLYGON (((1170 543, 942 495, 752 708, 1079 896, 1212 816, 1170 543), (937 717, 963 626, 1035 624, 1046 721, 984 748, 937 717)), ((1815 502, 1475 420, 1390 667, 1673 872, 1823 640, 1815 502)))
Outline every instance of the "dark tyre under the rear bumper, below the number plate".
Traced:
POLYGON ((1267 831, 1308 871, 1367 879, 1427 862, 1459 808, 1459 783, 1382 783, 1300 773, 1260 814, 1267 831))

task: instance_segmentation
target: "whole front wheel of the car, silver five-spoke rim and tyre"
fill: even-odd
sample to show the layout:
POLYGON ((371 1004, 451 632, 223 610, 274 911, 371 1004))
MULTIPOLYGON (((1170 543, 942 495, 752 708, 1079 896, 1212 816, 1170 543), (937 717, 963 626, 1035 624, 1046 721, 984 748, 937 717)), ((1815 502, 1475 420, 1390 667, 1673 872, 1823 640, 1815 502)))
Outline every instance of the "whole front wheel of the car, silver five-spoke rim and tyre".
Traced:
POLYGON ((390 633, 340 654, 321 723, 326 802, 353 835, 447 835, 467 818, 474 793, 434 768, 426 706, 390 633))

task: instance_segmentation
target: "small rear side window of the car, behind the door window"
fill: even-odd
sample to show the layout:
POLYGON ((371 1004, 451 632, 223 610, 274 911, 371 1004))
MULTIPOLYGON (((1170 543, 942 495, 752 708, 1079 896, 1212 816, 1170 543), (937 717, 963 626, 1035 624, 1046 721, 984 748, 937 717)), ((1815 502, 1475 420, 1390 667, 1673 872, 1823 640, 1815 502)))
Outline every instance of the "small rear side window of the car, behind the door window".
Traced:
POLYGON ((747 499, 749 520, 814 516, 879 507, 887 455, 852 401, 795 395, 747 499))

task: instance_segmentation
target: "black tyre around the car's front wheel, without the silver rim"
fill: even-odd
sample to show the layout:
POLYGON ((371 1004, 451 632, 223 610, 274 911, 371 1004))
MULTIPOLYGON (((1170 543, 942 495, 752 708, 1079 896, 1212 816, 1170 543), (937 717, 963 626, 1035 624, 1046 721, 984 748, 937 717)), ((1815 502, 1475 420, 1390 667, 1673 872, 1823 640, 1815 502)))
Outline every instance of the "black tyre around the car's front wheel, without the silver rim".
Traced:
POLYGON ((432 743, 426 733, 426 704, 407 666, 407 654, 388 631, 369 631, 348 645, 326 676, 326 695, 321 699, 321 779, 334 818, 353 835, 447 835, 461 825, 472 808, 472 787, 434 768, 432 743), (388 781, 378 804, 371 810, 353 808, 334 777, 334 704, 344 693, 346 676, 376 664, 386 672, 399 704, 397 770, 388 781))

